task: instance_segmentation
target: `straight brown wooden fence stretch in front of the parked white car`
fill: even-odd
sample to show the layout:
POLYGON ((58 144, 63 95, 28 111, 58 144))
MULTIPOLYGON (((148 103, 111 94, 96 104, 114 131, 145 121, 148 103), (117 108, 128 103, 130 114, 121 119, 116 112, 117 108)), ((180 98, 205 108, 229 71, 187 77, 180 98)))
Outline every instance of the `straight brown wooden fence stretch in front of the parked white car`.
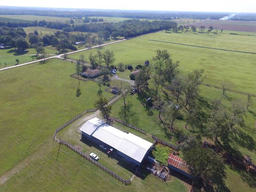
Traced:
POLYGON ((114 177, 116 180, 121 181, 123 184, 125 185, 131 185, 131 179, 123 179, 122 177, 120 177, 119 175, 117 175, 115 172, 109 170, 107 167, 99 164, 98 162, 92 160, 89 156, 87 156, 85 153, 83 153, 82 151, 80 151, 79 149, 75 148, 74 146, 72 146, 71 144, 69 144, 67 141, 63 141, 63 140, 58 140, 55 138, 55 140, 60 143, 61 145, 65 145, 68 148, 70 148, 72 151, 75 151, 76 153, 78 153, 80 156, 82 156, 84 159, 88 160, 89 162, 91 162, 92 164, 96 165, 97 167, 99 167, 101 170, 107 172, 109 175, 111 175, 112 177, 114 177))

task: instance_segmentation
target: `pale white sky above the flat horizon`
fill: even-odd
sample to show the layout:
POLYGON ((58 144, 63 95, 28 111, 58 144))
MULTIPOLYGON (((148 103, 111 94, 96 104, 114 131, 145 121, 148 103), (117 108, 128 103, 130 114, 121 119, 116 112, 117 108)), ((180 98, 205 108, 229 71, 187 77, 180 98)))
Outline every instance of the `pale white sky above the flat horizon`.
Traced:
POLYGON ((256 0, 1 0, 2 6, 157 11, 256 12, 256 0))

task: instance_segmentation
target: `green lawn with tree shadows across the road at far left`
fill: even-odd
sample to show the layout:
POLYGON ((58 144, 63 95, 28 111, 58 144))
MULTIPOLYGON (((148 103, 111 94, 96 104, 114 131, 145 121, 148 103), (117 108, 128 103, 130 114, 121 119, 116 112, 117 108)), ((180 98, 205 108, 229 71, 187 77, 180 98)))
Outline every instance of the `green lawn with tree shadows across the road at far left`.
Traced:
MULTIPOLYGON (((47 54, 57 53, 56 50, 48 49, 47 47, 45 47, 45 51, 47 54)), ((19 59, 19 64, 22 64, 37 60, 39 58, 36 56, 36 50, 34 48, 27 49, 24 52, 16 52, 13 48, 0 50, 0 68, 5 67, 4 63, 7 64, 7 67, 17 65, 16 59, 19 59)))

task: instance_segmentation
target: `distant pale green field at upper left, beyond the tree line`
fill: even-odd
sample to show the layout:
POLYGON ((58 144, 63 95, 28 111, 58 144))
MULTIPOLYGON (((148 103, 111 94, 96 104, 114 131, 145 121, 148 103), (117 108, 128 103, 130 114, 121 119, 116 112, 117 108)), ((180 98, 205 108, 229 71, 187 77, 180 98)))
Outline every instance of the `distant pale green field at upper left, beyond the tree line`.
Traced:
MULTIPOLYGON (((11 18, 11 19, 23 19, 23 20, 46 20, 46 21, 61 21, 66 22, 71 18, 66 17, 48 17, 48 16, 38 16, 38 15, 0 15, 0 17, 11 18)), ((75 23, 82 22, 80 19, 73 19, 75 23)))

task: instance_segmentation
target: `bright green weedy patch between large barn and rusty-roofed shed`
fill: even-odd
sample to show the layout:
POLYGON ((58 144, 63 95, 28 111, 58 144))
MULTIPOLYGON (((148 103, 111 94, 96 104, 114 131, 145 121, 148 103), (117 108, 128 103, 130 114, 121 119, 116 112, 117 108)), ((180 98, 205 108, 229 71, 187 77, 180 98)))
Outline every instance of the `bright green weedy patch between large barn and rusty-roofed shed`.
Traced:
POLYGON ((156 149, 152 150, 152 154, 155 157, 156 161, 159 161, 160 163, 166 164, 167 159, 172 152, 172 148, 164 146, 162 144, 156 144, 156 149))

